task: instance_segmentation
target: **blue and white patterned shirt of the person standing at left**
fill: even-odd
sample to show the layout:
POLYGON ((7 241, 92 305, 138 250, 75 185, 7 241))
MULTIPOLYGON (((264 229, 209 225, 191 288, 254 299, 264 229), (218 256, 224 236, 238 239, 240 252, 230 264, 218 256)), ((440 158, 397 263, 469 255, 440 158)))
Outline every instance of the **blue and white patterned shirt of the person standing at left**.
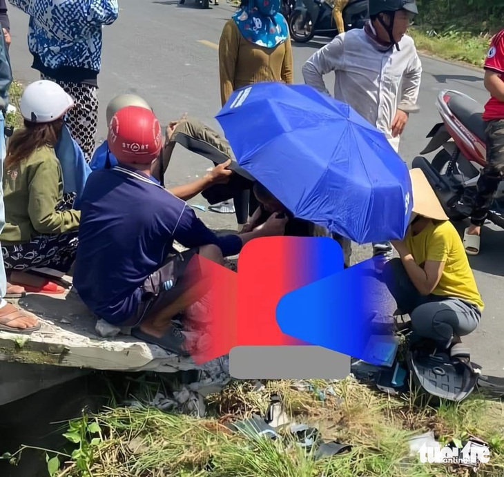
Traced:
POLYGON ((28 47, 46 68, 101 68, 101 28, 119 16, 117 0, 9 0, 30 15, 28 47))

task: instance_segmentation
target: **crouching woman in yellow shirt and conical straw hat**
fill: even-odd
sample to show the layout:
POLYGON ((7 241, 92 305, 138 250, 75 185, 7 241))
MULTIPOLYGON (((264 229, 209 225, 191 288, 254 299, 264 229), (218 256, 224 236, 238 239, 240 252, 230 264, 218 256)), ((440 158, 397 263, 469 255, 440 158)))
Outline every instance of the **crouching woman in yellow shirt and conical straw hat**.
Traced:
POLYGON ((387 285, 398 308, 410 315, 416 338, 467 359, 461 336, 478 327, 483 301, 456 228, 423 172, 413 169, 410 175, 413 213, 404 240, 392 242, 400 258, 384 270, 387 285))

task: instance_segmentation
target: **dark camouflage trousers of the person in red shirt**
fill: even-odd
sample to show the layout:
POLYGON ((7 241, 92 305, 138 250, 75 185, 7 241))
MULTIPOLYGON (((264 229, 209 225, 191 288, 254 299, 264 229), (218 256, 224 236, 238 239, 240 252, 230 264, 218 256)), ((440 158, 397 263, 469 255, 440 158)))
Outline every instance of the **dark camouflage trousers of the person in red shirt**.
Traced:
POLYGON ((471 223, 483 226, 504 173, 504 119, 487 121, 487 165, 478 179, 478 193, 472 204, 471 223))

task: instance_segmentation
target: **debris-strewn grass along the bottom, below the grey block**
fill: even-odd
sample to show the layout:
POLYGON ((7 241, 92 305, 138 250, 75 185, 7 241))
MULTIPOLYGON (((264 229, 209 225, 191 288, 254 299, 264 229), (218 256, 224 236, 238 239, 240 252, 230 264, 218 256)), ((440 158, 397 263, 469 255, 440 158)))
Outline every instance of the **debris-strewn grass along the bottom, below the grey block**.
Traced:
MULTIPOLYGON (((478 476, 504 474, 503 407, 501 401, 471 396, 439 409, 418 408, 412 400, 391 398, 349 377, 336 383, 310 381, 311 391, 295 382, 266 382, 257 391, 250 382, 231 382, 209 396, 209 417, 190 418, 149 407, 106 409, 93 418, 74 421, 67 434, 77 445, 63 471, 66 477, 443 477, 469 476, 466 467, 420 463, 409 456, 407 440, 434 430, 440 442, 463 440, 468 434, 491 447, 490 463, 478 476), (321 398, 321 389, 331 393, 321 398), (322 460, 289 440, 233 434, 226 423, 264 415, 269 396, 278 393, 295 422, 317 427, 324 440, 353 446, 347 454, 322 460), (84 425, 83 425, 84 422, 84 425), (93 429, 91 429, 93 427, 93 429), (84 429, 84 431, 83 431, 84 429), (86 438, 86 429, 88 438, 86 438)), ((50 454, 55 469, 55 457, 50 454)))

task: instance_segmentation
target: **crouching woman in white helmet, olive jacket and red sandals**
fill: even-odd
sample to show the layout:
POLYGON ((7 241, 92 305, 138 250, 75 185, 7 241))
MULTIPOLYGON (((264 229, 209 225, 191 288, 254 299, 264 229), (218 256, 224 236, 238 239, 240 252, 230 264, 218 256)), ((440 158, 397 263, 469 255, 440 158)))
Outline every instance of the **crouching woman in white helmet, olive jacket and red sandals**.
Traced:
POLYGON ((9 283, 26 291, 62 291, 26 272, 46 266, 66 273, 77 252, 80 212, 72 210, 72 199, 64 200, 55 154, 72 106, 72 98, 52 81, 30 84, 20 103, 24 128, 12 135, 8 146, 3 170, 6 225, 0 242, 9 283))

